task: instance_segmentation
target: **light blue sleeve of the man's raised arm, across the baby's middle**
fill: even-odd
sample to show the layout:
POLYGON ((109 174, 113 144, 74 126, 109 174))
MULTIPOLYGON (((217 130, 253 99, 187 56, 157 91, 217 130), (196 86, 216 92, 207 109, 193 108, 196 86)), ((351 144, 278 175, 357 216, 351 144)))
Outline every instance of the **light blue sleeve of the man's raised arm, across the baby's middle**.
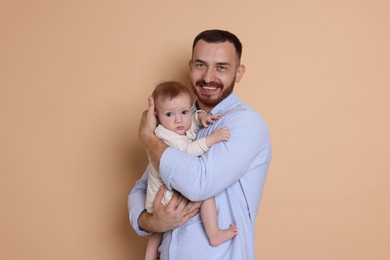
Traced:
POLYGON ((235 111, 201 131, 207 134, 222 127, 230 129, 230 140, 214 144, 200 157, 166 149, 160 160, 160 175, 169 189, 192 201, 205 200, 238 181, 249 168, 269 162, 269 131, 258 114, 235 111))

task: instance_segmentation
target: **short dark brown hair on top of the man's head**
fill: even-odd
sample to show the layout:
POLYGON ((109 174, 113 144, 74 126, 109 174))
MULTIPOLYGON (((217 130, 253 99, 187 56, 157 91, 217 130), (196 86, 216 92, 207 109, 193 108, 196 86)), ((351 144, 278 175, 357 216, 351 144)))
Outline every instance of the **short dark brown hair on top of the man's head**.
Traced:
POLYGON ((234 48, 236 49, 236 54, 238 57, 238 60, 241 60, 241 54, 242 54, 242 44, 240 40, 237 38, 236 35, 234 35, 231 32, 223 31, 223 30, 206 30, 201 33, 199 33, 192 44, 192 52, 194 52, 195 45, 198 43, 198 41, 204 40, 208 43, 217 43, 217 42, 230 42, 234 45, 234 48))

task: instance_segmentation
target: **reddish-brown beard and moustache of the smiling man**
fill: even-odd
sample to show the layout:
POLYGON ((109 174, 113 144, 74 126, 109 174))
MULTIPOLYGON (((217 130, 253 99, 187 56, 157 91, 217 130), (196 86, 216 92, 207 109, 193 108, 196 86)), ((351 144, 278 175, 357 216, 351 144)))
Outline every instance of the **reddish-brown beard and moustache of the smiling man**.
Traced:
POLYGON ((198 101, 200 103, 202 103, 202 104, 204 104, 204 105, 206 105, 208 107, 215 107, 216 105, 218 105, 222 100, 224 100, 227 96, 229 96, 233 92, 234 83, 235 83, 235 78, 226 87, 223 84, 221 84, 221 83, 211 82, 211 83, 207 84, 203 80, 198 80, 196 82, 195 87, 193 86, 192 88, 193 88, 193 91, 194 91, 195 95, 197 96, 198 101), (213 87, 216 87, 216 88, 220 88, 221 89, 220 95, 217 98, 211 98, 210 96, 207 96, 207 95, 201 96, 198 93, 197 87, 198 88, 202 88, 203 85, 209 85, 209 86, 213 86, 213 87))

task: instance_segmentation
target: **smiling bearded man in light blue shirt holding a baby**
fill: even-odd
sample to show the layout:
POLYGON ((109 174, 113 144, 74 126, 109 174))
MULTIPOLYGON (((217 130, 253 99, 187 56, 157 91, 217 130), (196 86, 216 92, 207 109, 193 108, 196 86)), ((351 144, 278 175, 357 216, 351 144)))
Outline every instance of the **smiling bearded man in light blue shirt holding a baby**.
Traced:
POLYGON ((233 93, 245 72, 242 46, 232 33, 208 30, 193 42, 189 61, 196 108, 221 118, 198 132, 204 137, 228 127, 230 140, 215 144, 200 157, 168 147, 153 131, 154 103, 144 112, 139 137, 152 163, 174 197, 161 204, 164 190, 156 197, 153 214, 145 211, 147 176, 129 195, 130 221, 139 235, 165 232, 160 259, 254 259, 254 230, 265 178, 271 160, 268 127, 261 116, 233 93), (181 194, 181 195, 180 195, 181 194), (212 247, 198 213, 199 203, 215 196, 221 228, 237 225, 239 234, 212 247), (193 201, 193 202, 191 202, 193 201))

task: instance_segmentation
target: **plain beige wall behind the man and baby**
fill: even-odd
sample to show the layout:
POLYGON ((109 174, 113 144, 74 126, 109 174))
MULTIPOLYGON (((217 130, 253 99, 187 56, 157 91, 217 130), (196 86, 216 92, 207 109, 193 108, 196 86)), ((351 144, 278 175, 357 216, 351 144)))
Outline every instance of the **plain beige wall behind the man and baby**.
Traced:
POLYGON ((154 85, 236 33, 268 122, 267 260, 390 259, 390 2, 0 1, 0 259, 142 259, 127 194, 154 85))

